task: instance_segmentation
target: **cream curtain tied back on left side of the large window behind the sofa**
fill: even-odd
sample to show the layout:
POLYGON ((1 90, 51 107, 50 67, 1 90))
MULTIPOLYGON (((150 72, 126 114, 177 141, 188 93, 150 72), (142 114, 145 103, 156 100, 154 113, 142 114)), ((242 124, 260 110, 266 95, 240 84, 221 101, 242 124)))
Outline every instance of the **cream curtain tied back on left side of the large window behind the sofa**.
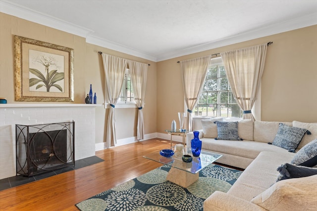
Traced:
POLYGON ((191 131, 193 126, 192 111, 201 94, 207 75, 211 56, 204 56, 180 62, 185 102, 187 105, 187 130, 191 131))

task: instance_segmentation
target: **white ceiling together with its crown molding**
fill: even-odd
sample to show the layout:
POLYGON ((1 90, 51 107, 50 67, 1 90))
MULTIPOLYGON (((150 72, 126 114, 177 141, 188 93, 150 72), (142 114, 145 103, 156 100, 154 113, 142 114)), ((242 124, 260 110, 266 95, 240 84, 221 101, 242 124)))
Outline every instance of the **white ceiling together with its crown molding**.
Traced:
POLYGON ((317 0, 0 0, 0 11, 152 61, 317 24, 317 0))

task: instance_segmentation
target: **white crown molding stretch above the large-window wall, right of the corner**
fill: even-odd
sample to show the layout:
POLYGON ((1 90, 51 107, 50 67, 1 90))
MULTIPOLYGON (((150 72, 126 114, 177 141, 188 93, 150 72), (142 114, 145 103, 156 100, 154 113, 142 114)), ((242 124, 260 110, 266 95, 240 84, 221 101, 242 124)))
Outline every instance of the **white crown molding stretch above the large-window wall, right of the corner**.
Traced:
POLYGON ((295 29, 300 29, 308 26, 317 25, 317 13, 302 16, 300 18, 292 19, 289 21, 271 24, 267 27, 258 28, 252 31, 248 31, 237 36, 221 39, 214 42, 208 42, 201 45, 165 53, 164 55, 158 56, 157 61, 163 61, 179 56, 184 56, 192 53, 197 53, 205 50, 210 50, 217 47, 222 47, 230 44, 239 42, 245 42, 257 38, 263 38, 270 35, 275 35, 283 32, 288 32, 295 29))

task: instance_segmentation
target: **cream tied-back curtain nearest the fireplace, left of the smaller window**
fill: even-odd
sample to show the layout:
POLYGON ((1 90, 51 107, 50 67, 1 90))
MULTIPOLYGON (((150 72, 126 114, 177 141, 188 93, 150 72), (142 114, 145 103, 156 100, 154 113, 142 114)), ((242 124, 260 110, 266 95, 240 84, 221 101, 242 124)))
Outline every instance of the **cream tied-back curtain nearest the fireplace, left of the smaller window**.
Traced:
POLYGON ((128 61, 123 58, 111 56, 103 53, 105 84, 106 84, 106 103, 110 103, 107 129, 106 129, 106 148, 114 146, 117 142, 115 132, 114 107, 118 101, 119 94, 127 69, 128 61))

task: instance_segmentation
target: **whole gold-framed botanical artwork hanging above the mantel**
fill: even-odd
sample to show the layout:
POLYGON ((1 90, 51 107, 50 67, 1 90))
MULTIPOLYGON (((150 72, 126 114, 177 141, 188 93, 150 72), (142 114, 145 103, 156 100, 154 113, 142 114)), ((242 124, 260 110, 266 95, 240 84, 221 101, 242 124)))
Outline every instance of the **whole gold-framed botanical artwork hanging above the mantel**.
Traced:
POLYGON ((15 100, 73 102, 74 49, 14 36, 15 100))

